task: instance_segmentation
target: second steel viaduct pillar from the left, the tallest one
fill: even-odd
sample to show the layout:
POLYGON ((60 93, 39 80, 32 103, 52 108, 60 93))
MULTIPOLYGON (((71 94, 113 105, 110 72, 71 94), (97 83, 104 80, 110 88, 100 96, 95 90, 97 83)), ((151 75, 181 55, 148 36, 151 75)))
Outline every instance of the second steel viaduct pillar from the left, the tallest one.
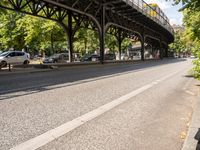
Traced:
POLYGON ((105 48, 105 6, 102 4, 101 6, 101 29, 100 29, 100 62, 104 63, 104 48, 105 48))

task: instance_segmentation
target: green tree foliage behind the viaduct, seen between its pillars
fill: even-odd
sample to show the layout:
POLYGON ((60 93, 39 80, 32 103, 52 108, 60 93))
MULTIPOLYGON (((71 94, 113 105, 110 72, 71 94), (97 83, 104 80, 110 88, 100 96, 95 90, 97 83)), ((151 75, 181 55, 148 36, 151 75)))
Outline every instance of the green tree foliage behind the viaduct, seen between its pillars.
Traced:
MULTIPOLYGON (((67 19, 65 19, 67 23, 67 19)), ((81 28, 74 36, 74 52, 99 53, 99 35, 96 31, 81 28)), ((132 41, 124 39, 122 52, 132 41)), ((27 50, 32 55, 63 52, 68 49, 67 36, 57 22, 0 9, 0 50, 27 50)), ((106 35, 105 48, 110 53, 118 52, 118 43, 113 35, 106 35)))

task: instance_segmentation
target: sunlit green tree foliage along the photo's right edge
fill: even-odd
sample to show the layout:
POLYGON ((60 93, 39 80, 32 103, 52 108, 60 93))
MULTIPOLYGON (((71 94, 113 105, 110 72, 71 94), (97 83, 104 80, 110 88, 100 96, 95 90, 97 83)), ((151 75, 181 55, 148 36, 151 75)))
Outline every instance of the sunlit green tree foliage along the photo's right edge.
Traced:
MULTIPOLYGON (((189 46, 197 57, 194 60, 194 75, 200 79, 200 3, 199 0, 175 0, 175 4, 182 2, 183 26, 185 31, 178 41, 182 45, 189 46)), ((175 42, 177 43, 177 42, 175 42)), ((175 44, 176 45, 176 44, 175 44)))

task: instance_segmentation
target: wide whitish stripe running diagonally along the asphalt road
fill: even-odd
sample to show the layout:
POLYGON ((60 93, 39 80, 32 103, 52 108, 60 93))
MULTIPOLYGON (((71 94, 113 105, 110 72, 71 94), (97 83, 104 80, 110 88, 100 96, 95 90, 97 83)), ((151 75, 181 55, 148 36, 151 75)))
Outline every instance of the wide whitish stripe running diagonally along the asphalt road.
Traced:
POLYGON ((21 143, 13 148, 11 148, 10 150, 36 150, 37 148, 40 148, 44 145, 46 145, 47 143, 61 137, 62 135, 76 129, 77 127, 85 124, 86 122, 102 115, 103 113, 113 109, 114 107, 128 101, 130 98, 135 97, 136 95, 150 89, 151 87, 157 85, 158 83, 164 81, 165 79, 175 75, 176 73, 180 72, 181 70, 171 73, 167 76, 164 76, 162 78, 160 78, 159 80, 153 81, 137 90, 134 90, 124 96, 121 96, 118 99, 113 100, 110 103, 107 103, 103 106, 100 106, 99 108, 92 110, 78 118, 75 118, 72 121, 69 121, 65 124, 62 124, 61 126, 54 128, 52 130, 49 130, 47 132, 45 132, 44 134, 41 134, 35 138, 32 138, 24 143, 21 143))

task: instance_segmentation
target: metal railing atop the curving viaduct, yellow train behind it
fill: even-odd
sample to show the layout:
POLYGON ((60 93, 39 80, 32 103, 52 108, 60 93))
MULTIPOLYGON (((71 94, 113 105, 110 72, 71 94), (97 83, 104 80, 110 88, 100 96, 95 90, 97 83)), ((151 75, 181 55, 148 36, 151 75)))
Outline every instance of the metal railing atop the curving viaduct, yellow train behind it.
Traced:
POLYGON ((172 26, 169 23, 168 17, 163 13, 161 9, 159 9, 159 12, 155 9, 153 9, 150 5, 148 5, 143 0, 124 0, 127 4, 131 5, 133 8, 137 8, 141 13, 148 16, 152 20, 154 20, 156 23, 163 26, 165 29, 167 29, 169 32, 174 34, 174 30, 172 26))

